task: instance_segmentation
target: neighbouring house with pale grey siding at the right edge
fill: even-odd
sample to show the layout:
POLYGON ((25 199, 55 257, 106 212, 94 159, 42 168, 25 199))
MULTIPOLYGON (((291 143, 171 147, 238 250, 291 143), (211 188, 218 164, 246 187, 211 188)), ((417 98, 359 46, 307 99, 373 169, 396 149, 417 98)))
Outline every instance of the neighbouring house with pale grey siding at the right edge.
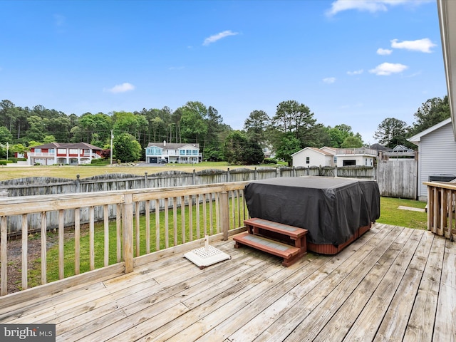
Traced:
POLYGON ((453 175, 456 178, 456 142, 451 118, 413 135, 408 141, 418 145, 418 200, 427 201, 427 186, 423 182, 447 181, 453 175))

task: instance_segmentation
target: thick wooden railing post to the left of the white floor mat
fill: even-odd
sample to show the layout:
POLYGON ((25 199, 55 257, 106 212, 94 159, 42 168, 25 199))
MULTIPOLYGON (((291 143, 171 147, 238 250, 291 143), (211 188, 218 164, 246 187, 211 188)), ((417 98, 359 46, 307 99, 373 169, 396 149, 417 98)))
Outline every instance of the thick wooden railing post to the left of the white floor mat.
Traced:
POLYGON ((125 274, 133 272, 133 194, 125 194, 122 205, 122 244, 125 274))

